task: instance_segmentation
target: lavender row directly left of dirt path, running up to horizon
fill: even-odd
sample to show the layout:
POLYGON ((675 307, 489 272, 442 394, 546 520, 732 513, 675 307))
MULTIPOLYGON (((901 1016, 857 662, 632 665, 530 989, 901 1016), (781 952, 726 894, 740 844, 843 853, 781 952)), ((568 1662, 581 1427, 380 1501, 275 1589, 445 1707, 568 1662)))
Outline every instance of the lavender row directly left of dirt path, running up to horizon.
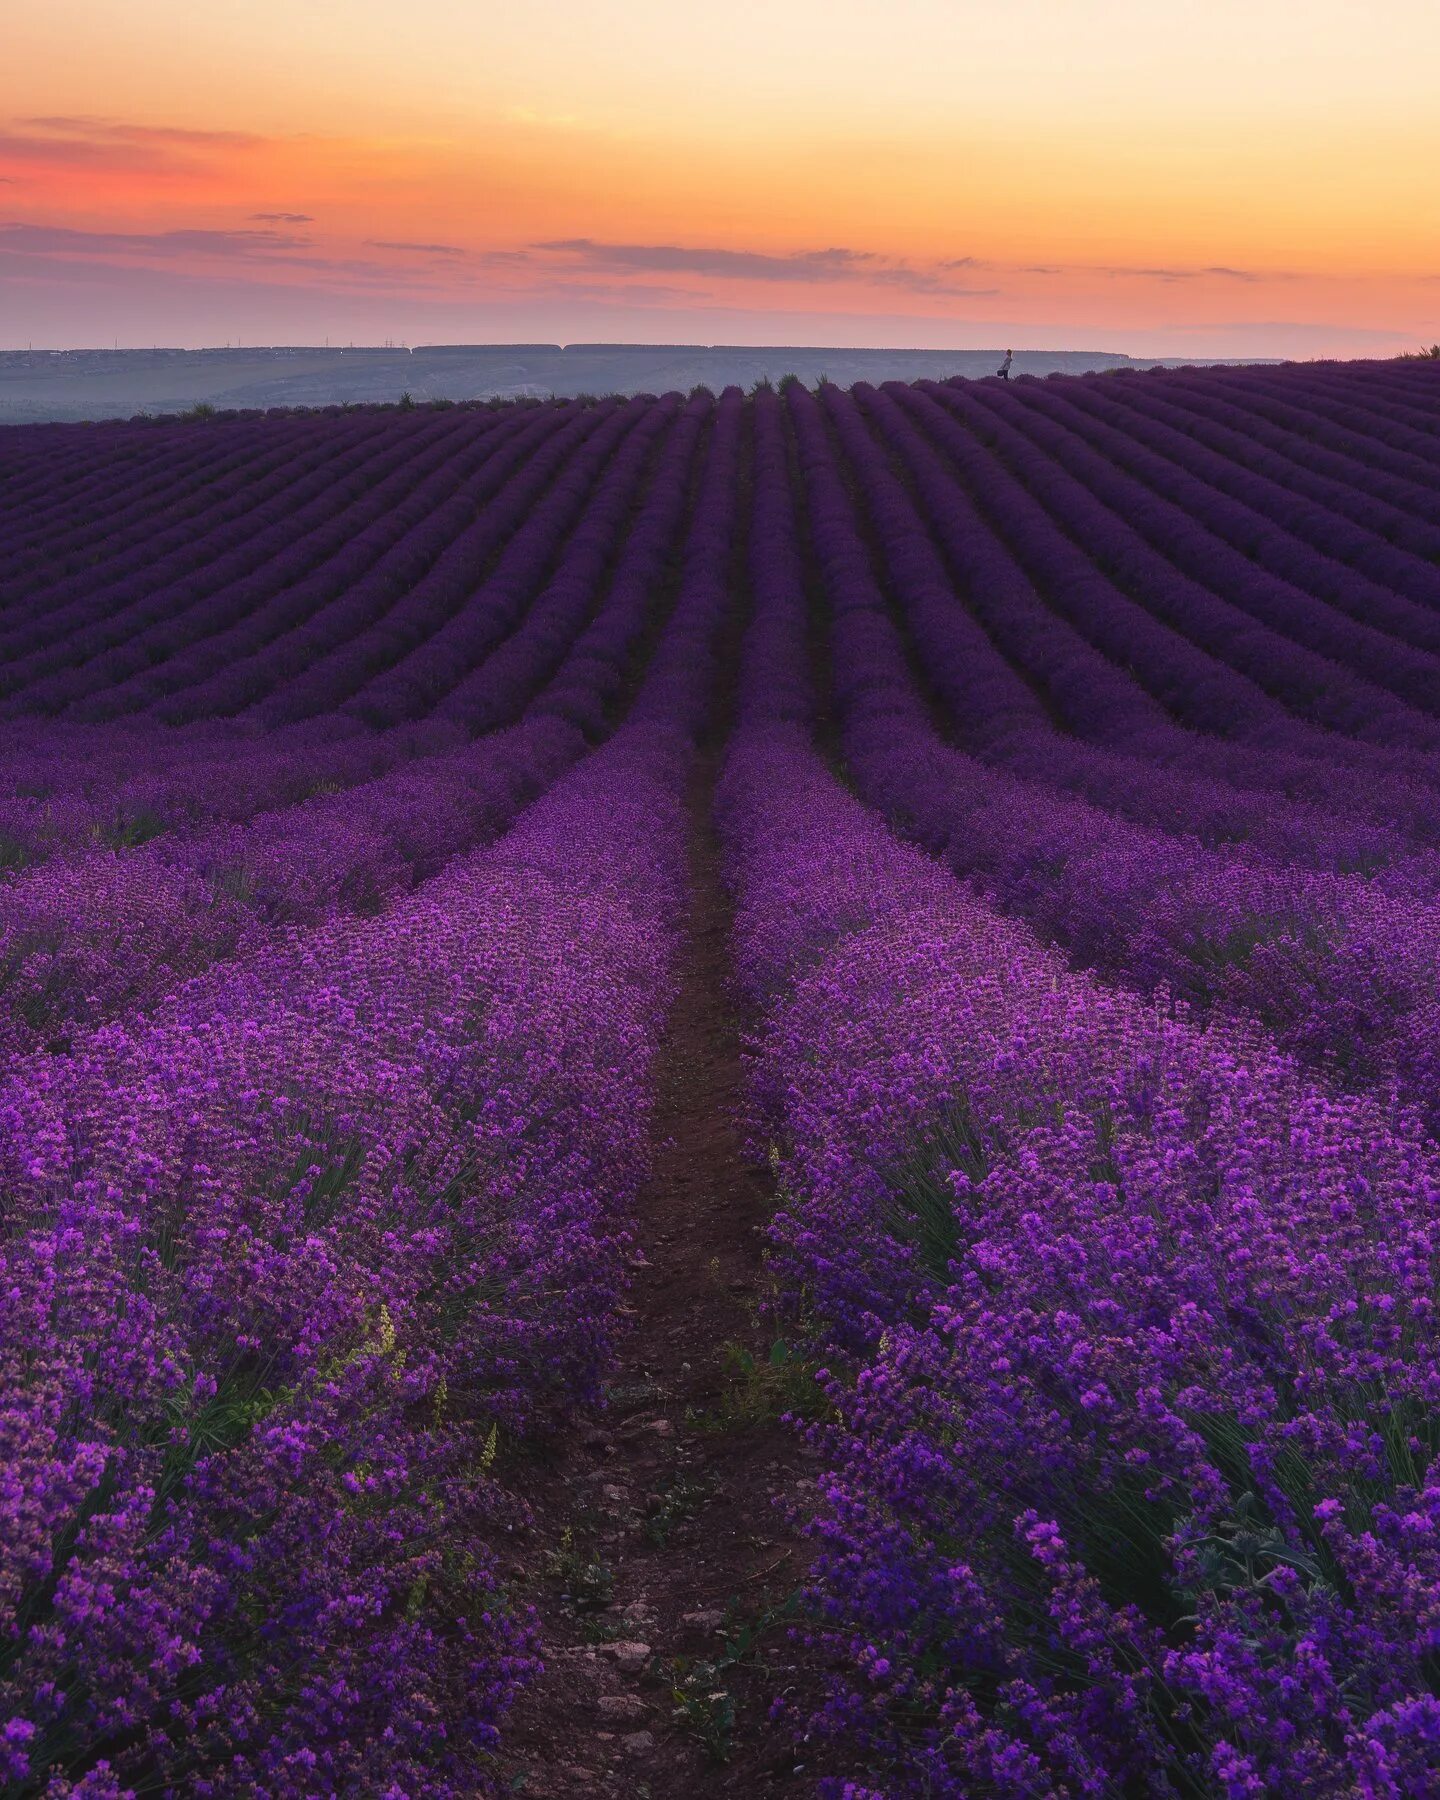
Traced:
MULTIPOLYGON (((504 1445, 608 1364, 686 902, 740 396, 688 419, 691 517, 677 461, 536 715, 578 752, 623 700, 684 524, 607 743, 493 848, 371 916, 263 932, 0 1085, 18 1793, 488 1784, 536 1670, 504 1445)), ((407 774, 434 830, 445 783, 407 774)))

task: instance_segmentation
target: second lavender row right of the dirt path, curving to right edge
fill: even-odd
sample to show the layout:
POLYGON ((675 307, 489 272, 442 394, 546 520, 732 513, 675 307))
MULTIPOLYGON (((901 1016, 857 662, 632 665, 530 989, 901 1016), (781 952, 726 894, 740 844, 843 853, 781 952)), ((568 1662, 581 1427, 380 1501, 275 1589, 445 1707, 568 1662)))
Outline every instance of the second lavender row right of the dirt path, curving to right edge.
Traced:
POLYGON ((1183 765, 1177 774, 1096 761, 1026 713, 1031 697, 954 605, 940 596, 925 617, 923 571, 891 553, 947 698, 961 716, 995 722, 1006 745, 1030 734, 1030 774, 949 747, 905 668, 819 407, 792 392, 788 410, 830 608, 844 752, 866 797, 1082 963, 1143 992, 1165 986, 1206 1010, 1255 1017, 1348 1085, 1397 1087, 1429 1127, 1440 1123, 1433 855, 1393 830, 1197 785, 1183 765), (1195 835, 1206 830, 1219 842, 1195 835), (1386 855, 1397 860, 1384 880, 1334 873, 1386 855))

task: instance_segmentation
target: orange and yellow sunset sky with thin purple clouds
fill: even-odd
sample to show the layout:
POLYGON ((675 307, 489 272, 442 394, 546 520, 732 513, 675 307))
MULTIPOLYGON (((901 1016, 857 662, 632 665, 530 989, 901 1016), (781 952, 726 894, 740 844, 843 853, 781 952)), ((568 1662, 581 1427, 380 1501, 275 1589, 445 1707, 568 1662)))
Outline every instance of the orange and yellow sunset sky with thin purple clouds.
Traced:
POLYGON ((4 38, 4 349, 1440 338, 1436 0, 13 0, 4 38))

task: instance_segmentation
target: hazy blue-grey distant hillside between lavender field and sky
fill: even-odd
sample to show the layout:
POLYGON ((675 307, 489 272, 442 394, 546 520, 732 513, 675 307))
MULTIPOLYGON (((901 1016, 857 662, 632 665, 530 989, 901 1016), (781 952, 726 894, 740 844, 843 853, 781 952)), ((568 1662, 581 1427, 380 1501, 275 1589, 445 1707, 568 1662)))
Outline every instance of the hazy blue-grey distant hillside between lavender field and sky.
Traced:
MULTIPOLYGON (((490 400, 752 387, 794 373, 853 382, 994 374, 1003 349, 826 349, 733 344, 423 344, 416 349, 281 346, 256 349, 0 351, 0 423, 113 419, 214 407, 324 407, 344 401, 490 400)), ((1017 351, 1015 374, 1156 367, 1116 351, 1017 351)))

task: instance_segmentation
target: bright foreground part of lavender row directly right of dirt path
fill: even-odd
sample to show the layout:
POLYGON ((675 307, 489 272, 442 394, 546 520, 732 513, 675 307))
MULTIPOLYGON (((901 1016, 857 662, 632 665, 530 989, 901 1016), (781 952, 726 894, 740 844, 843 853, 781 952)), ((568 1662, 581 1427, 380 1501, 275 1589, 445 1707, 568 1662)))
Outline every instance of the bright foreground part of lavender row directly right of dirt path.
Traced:
POLYGON ((1440 1161, 1069 972, 797 727, 722 817, 823 1723, 886 1793, 1433 1791, 1440 1161))

